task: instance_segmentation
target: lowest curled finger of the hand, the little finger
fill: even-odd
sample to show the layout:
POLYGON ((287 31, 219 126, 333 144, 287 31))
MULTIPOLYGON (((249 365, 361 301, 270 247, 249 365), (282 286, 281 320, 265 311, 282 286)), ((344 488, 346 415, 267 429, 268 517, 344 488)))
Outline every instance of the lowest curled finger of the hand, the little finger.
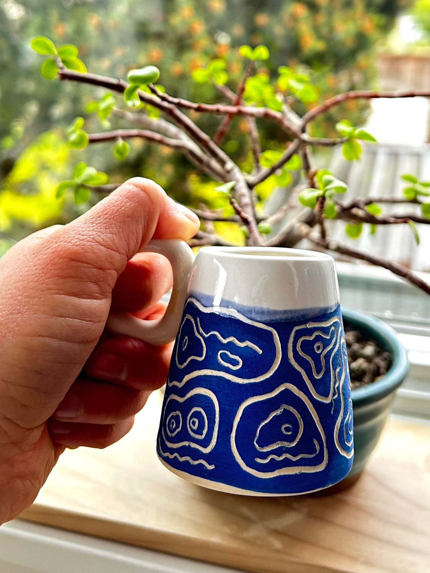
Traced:
POLYGON ((116 424, 84 424, 60 422, 50 418, 48 431, 55 444, 67 448, 87 446, 87 448, 107 448, 123 438, 132 428, 134 417, 116 424))

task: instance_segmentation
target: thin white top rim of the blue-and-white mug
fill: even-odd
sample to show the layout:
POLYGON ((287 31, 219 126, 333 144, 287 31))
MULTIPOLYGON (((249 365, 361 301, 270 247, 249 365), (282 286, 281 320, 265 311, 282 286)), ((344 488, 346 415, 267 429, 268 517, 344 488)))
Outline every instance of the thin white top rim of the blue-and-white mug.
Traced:
POLYGON ((334 261, 334 258, 326 253, 306 249, 288 249, 286 247, 269 246, 245 246, 245 247, 201 247, 199 253, 220 254, 231 258, 248 258, 267 260, 267 254, 272 254, 273 261, 334 261), (261 253, 261 254, 259 254, 261 253), (291 253, 291 254, 290 254, 291 253))

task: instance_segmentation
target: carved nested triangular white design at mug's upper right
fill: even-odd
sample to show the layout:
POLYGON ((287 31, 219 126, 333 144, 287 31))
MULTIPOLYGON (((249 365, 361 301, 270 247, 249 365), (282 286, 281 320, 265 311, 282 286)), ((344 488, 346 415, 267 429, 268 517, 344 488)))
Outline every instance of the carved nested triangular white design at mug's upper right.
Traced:
MULTIPOLYGON (((324 322, 309 322, 307 324, 300 324, 299 326, 294 327, 292 329, 292 332, 290 335, 290 340, 288 340, 288 358, 290 359, 291 364, 294 366, 294 368, 296 368, 296 370, 298 370, 300 372, 300 374, 302 374, 303 379, 306 382, 307 387, 309 388, 312 396, 315 399, 319 400, 320 402, 329 403, 329 402, 331 402, 331 399, 333 398, 334 381, 335 381, 333 359, 334 359, 334 356, 336 355, 336 352, 338 351, 340 339, 341 339, 341 320, 339 319, 338 316, 333 316, 331 319, 326 320, 324 322), (323 352, 320 352, 322 371, 320 372, 320 374, 317 374, 313 360, 310 358, 310 356, 304 354, 304 352, 301 350, 300 346, 301 346, 303 340, 313 340, 316 335, 320 335, 323 338, 329 339, 331 336, 331 333, 332 333, 332 328, 330 328, 330 332, 328 335, 325 335, 321 331, 315 331, 310 336, 304 335, 304 336, 300 337, 297 344, 296 344, 296 349, 294 349, 294 336, 295 336, 296 332, 298 332, 300 329, 323 328, 323 327, 328 327, 331 325, 333 325, 333 328, 335 329, 334 338, 333 338, 333 341, 330 343, 330 345, 326 348, 326 350, 324 350, 323 352), (329 395, 324 396, 322 394, 319 394, 315 390, 315 386, 314 386, 314 384, 312 384, 311 380, 309 379, 308 375, 306 374, 306 371, 300 366, 300 364, 298 364, 296 362, 296 359, 294 358, 294 350, 297 350, 298 353, 300 354, 300 356, 302 356, 303 358, 306 358, 306 360, 311 364, 312 374, 318 380, 322 377, 322 375, 326 371, 325 355, 332 348, 333 348, 333 352, 331 352, 331 355, 330 355, 330 392, 329 392, 329 395)), ((315 346, 316 346, 316 344, 318 344, 318 343, 315 343, 315 346)))

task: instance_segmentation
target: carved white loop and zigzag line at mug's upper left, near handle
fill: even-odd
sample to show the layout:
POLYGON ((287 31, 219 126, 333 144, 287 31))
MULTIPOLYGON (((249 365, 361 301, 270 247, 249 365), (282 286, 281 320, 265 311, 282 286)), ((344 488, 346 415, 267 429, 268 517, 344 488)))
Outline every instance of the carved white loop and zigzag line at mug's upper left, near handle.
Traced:
MULTIPOLYGON (((169 380, 168 381, 169 386, 177 386, 178 388, 181 388, 183 386, 183 384, 185 384, 186 382, 188 382, 188 380, 191 380, 192 378, 196 378, 196 376, 221 376, 221 378, 226 378, 228 380, 231 380, 232 382, 238 382, 240 384, 245 384, 245 383, 249 383, 249 382, 261 382, 261 380, 265 380, 266 378, 269 378, 269 376, 271 376, 273 374, 273 372, 275 372, 276 368, 279 366, 279 363, 281 361, 282 351, 281 351, 281 343, 279 340, 279 336, 278 336, 278 334, 274 328, 271 328, 264 323, 259 323, 259 322, 256 322, 255 320, 248 319, 246 316, 242 315, 240 312, 237 312, 234 308, 204 307, 197 299, 194 299, 193 297, 190 297, 188 299, 188 301, 190 301, 191 303, 196 305, 196 307, 201 312, 205 312, 205 313, 215 312, 215 313, 220 313, 222 315, 233 316, 234 318, 241 320, 242 322, 244 322, 246 324, 251 324, 253 326, 256 326, 257 328, 261 328, 263 330, 269 331, 271 333, 271 335, 273 336, 273 343, 275 344, 275 349, 276 349, 275 359, 273 360, 272 366, 269 368, 269 370, 267 372, 265 372, 264 374, 261 374, 260 376, 256 376, 255 378, 240 378, 239 376, 234 376, 233 374, 230 374, 229 372, 222 372, 219 370, 212 370, 209 368, 204 368, 202 370, 194 370, 193 372, 190 372, 189 374, 184 376, 184 378, 182 379, 181 382, 178 382, 177 380, 172 380, 170 382, 170 380, 169 380)), ((240 342, 234 336, 229 336, 228 338, 223 338, 220 335, 220 333, 216 332, 216 331, 205 333, 201 329, 200 321, 198 321, 198 319, 197 319, 197 323, 198 323, 200 332, 205 337, 215 335, 215 336, 217 336, 218 340, 220 340, 222 343, 233 342, 234 344, 237 344, 237 346, 240 346, 240 347, 248 346, 250 348, 253 348, 253 350, 255 350, 256 352, 259 352, 259 354, 262 353, 261 349, 259 347, 257 347, 256 344, 249 342, 249 340, 245 340, 244 342, 240 342)), ((178 338, 178 340, 179 340, 179 338, 178 338)), ((192 358, 193 357, 190 357, 190 359, 192 359, 192 358)), ((198 359, 202 360, 202 358, 198 358, 198 359)), ((229 367, 231 367, 231 365, 229 365, 229 367)))

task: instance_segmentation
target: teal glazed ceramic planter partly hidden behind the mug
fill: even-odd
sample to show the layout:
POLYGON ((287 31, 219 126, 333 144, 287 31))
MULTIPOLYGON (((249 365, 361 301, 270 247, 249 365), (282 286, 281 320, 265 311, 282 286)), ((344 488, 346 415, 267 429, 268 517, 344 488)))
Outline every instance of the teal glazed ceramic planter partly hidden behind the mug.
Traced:
POLYGON ((344 481, 358 478, 381 437, 394 393, 409 371, 405 348, 393 328, 373 316, 342 308, 343 323, 367 333, 392 356, 390 370, 377 382, 351 392, 354 413, 354 463, 344 481))

